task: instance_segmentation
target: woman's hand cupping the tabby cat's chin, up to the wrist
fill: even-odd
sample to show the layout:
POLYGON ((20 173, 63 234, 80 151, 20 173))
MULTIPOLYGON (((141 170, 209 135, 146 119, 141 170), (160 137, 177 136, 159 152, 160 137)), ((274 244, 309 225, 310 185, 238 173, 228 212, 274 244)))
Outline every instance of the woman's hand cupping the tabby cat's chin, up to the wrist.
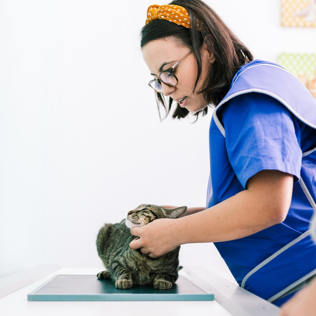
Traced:
POLYGON ((138 237, 130 243, 130 248, 141 248, 141 252, 148 253, 150 258, 172 251, 181 244, 176 222, 177 219, 161 218, 142 227, 133 227, 131 234, 138 237))

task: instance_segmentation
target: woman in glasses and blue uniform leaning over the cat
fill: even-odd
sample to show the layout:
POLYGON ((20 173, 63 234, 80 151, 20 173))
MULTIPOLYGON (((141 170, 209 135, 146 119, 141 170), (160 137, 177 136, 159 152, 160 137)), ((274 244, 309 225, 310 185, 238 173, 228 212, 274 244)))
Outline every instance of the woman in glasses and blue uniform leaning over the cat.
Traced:
POLYGON ((167 114, 172 103, 178 119, 215 109, 206 208, 133 228, 139 238, 130 247, 156 258, 181 244, 214 242, 241 287, 280 306, 316 274, 308 230, 316 211, 316 100, 282 67, 253 60, 199 0, 150 6, 141 47, 167 114))

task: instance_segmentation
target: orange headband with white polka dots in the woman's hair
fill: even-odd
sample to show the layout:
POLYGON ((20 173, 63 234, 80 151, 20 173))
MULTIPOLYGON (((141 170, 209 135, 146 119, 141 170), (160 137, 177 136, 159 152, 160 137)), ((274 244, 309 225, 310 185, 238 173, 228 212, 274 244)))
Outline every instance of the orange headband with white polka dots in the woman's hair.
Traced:
POLYGON ((153 4, 147 9, 146 24, 153 20, 166 20, 169 22, 191 28, 190 17, 187 9, 174 4, 153 4))

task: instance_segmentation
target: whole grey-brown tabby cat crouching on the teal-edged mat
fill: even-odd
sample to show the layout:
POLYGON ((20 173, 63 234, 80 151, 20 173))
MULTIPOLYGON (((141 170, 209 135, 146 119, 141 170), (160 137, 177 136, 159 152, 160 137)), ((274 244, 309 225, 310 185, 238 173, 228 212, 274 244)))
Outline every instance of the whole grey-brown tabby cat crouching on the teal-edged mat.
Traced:
POLYGON ((133 284, 153 285, 155 289, 170 289, 178 278, 180 246, 159 258, 150 258, 140 249, 129 247, 135 238, 130 229, 144 226, 157 218, 177 218, 186 206, 166 209, 157 205, 142 204, 127 213, 117 224, 105 224, 99 231, 96 245, 106 271, 97 274, 99 279, 115 280, 117 289, 130 289, 133 284))

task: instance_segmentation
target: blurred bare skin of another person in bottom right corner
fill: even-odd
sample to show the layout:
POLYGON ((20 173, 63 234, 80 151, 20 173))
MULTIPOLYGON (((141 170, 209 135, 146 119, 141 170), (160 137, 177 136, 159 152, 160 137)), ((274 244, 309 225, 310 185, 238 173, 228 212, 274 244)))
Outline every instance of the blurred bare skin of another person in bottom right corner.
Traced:
POLYGON ((281 306, 280 316, 314 316, 316 315, 316 280, 301 289, 289 301, 281 306))

